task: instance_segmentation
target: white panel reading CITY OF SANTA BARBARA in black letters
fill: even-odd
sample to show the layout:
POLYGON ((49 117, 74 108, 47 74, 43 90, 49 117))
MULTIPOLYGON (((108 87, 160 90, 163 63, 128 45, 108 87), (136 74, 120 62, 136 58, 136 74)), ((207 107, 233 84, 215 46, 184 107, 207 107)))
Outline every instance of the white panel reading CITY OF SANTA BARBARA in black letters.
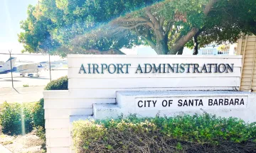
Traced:
POLYGON ((137 111, 246 108, 247 96, 135 98, 137 111))

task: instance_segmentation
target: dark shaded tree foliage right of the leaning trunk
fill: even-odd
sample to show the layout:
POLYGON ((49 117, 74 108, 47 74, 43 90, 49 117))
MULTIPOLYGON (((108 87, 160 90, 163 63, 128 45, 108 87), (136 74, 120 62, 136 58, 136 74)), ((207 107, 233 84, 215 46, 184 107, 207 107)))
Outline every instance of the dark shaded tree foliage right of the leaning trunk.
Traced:
POLYGON ((212 42, 214 45, 235 43, 242 36, 252 34, 256 35, 255 0, 218 1, 208 14, 203 28, 186 46, 193 47, 193 54, 197 55, 198 47, 212 42))

